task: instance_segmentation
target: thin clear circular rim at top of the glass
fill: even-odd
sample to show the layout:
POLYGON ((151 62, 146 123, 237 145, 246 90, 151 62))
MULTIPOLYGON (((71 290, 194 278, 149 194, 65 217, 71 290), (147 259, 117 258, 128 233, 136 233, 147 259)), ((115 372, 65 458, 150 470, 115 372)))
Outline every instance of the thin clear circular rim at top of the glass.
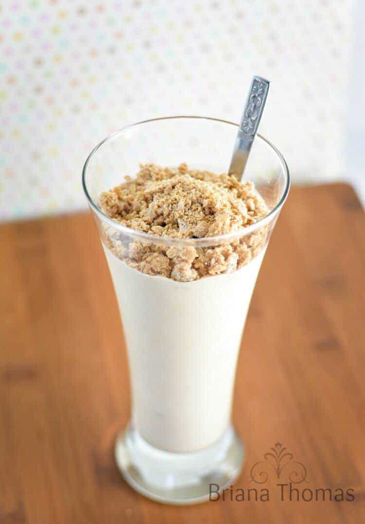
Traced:
MULTIPOLYGON (((161 237, 161 236, 157 236, 157 235, 151 235, 150 233, 145 233, 143 231, 137 231, 137 230, 132 229, 131 227, 127 227, 127 226, 124 226, 123 224, 119 224, 118 222, 116 222, 115 220, 111 219, 108 215, 103 213, 103 211, 101 211, 98 208, 97 204, 91 198, 91 195, 90 195, 89 191, 87 190, 87 184, 86 184, 87 166, 89 165, 89 162, 93 158, 93 156, 95 155, 96 151, 100 147, 102 147, 106 142, 108 142, 110 140, 114 140, 119 135, 123 135, 123 133, 126 132, 126 130, 128 130, 128 129, 132 128, 132 127, 136 127, 136 126, 139 126, 139 125, 142 125, 142 124, 148 124, 150 122, 159 122, 161 120, 172 120, 172 119, 178 119, 178 118, 192 118, 192 119, 201 119, 201 120, 211 120, 211 121, 214 121, 214 122, 220 122, 222 124, 229 124, 229 125, 235 126, 237 128, 239 127, 239 124, 236 124, 235 122, 230 122, 228 120, 223 120, 221 118, 214 118, 214 117, 210 117, 210 116, 176 115, 176 116, 162 116, 162 117, 159 117, 159 118, 150 118, 150 119, 147 119, 147 120, 142 120, 140 122, 135 122, 134 124, 129 124, 127 126, 121 127, 120 129, 118 129, 114 133, 111 133, 110 135, 108 135, 106 138, 104 138, 101 142, 99 142, 94 147, 94 149, 90 152, 89 156, 87 156, 86 161, 84 163, 84 167, 82 169, 82 188, 83 188, 83 191, 85 193, 86 199, 87 199, 91 209, 96 213, 96 215, 102 221, 106 222, 108 225, 114 227, 115 229, 117 229, 121 233, 124 233, 124 234, 129 235, 129 236, 139 237, 139 238, 141 238, 141 239, 143 239, 145 241, 149 241, 149 242, 152 242, 154 244, 193 245, 195 247, 204 247, 206 245, 217 244, 217 242, 219 243, 220 241, 228 241, 228 240, 240 237, 240 236, 249 235, 249 234, 254 233, 255 231, 257 231, 259 228, 269 224, 274 219, 274 217, 280 212, 280 210, 281 210, 281 208, 282 208, 282 206, 283 206, 283 204, 284 204, 284 202, 285 202, 285 200, 287 198, 287 194, 289 193, 289 188, 290 188, 290 174, 289 174, 289 169, 287 167, 287 163, 285 161, 285 158, 283 157, 283 155, 281 154, 279 149, 277 149, 267 138, 263 137, 259 133, 257 133, 256 137, 259 137, 260 140, 262 140, 264 143, 266 143, 273 150, 273 152, 276 154, 276 156, 278 156, 278 158, 280 160, 280 163, 281 163, 284 175, 285 175, 285 188, 284 188, 283 194, 281 195, 281 198, 280 198, 279 202, 274 206, 274 208, 267 215, 265 215, 262 219, 260 219, 257 222, 255 222, 255 224, 250 224, 250 225, 248 225, 246 227, 242 227, 240 230, 233 231, 233 232, 230 232, 230 233, 225 233, 224 235, 208 236, 208 237, 203 237, 203 238, 173 238, 173 237, 167 237, 167 236, 161 237)), ((232 147, 233 146, 234 146, 234 144, 232 145, 232 147)), ((107 189, 106 189, 106 191, 107 191, 107 189)))

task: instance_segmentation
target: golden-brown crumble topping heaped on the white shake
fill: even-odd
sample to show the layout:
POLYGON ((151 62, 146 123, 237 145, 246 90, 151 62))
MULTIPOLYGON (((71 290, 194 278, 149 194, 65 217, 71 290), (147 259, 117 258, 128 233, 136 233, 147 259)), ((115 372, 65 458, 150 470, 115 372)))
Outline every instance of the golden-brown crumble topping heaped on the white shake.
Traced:
MULTIPOLYGON (((102 211, 116 222, 157 237, 204 238, 242 230, 260 220, 268 208, 252 182, 234 176, 141 165, 136 178, 100 196, 102 211)), ((267 227, 216 247, 159 246, 123 242, 105 228, 105 242, 126 263, 148 275, 190 282, 230 273, 248 264, 266 243, 267 227)))

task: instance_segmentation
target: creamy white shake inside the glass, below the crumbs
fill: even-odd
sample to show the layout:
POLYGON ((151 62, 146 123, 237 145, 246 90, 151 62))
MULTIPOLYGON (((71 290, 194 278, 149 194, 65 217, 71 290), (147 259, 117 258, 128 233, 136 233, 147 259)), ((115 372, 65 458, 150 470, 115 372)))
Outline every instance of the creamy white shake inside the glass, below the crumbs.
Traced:
POLYGON ((128 348, 133 424, 161 450, 193 452, 230 423, 242 330, 265 249, 230 274, 178 282, 104 245, 128 348))

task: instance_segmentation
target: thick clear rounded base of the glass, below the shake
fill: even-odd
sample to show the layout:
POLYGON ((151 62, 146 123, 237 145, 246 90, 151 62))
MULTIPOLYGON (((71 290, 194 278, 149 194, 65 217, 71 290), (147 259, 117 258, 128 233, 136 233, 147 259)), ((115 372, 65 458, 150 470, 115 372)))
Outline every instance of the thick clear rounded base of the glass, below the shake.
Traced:
POLYGON ((158 450, 132 426, 118 435, 115 444, 117 466, 126 482, 145 497, 165 504, 204 502, 209 499, 209 484, 217 484, 220 490, 229 487, 241 472, 244 455, 232 426, 217 442, 193 453, 158 450))

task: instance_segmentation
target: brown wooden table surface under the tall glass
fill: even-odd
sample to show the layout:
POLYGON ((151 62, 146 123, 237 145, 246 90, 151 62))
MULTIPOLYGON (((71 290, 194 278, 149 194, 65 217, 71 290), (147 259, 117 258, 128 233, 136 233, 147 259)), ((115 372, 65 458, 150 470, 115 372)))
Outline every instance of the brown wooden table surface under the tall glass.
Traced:
POLYGON ((281 501, 287 476, 272 469, 268 502, 191 507, 141 497, 115 466, 127 361, 92 217, 0 227, 0 522, 364 522, 364 225, 348 185, 292 190, 252 300, 234 407, 247 450, 235 487, 261 488, 251 467, 281 442, 306 468, 301 493, 352 488, 355 500, 281 501))

